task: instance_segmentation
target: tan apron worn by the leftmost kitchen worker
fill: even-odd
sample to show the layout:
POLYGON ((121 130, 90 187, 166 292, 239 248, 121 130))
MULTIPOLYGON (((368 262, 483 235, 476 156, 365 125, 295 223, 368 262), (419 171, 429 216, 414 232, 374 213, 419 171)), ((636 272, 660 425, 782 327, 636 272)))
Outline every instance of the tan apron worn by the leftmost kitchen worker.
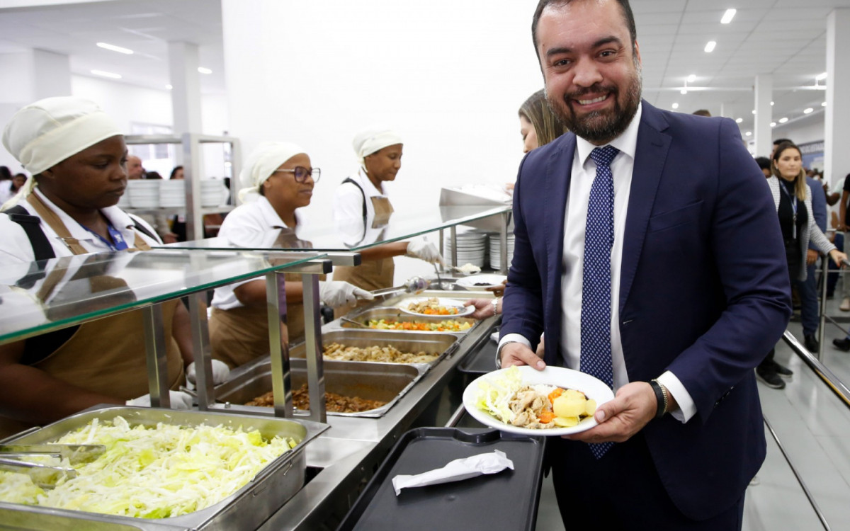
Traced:
MULTIPOLYGON (((29 196, 45 223, 54 229, 74 254, 88 254, 53 211, 37 195, 29 196), (35 201, 33 201, 35 200, 35 201), (42 212, 43 211, 43 212, 42 212)), ((133 250, 150 249, 136 234, 133 250)), ((39 297, 45 298, 54 291, 62 275, 48 275, 39 297), (52 285, 51 285, 52 283, 52 285)), ((92 291, 116 287, 116 279, 94 277, 92 291), (111 280, 110 280, 111 279, 111 280)), ((120 280, 117 280, 120 282, 120 280)), ((174 311, 179 301, 162 302, 163 328, 166 337, 169 387, 177 389, 183 382, 183 359, 172 336, 174 311)), ((144 317, 141 310, 124 312, 104 319, 84 323, 54 353, 34 365, 54 378, 82 387, 94 393, 128 400, 148 393, 147 358, 144 347, 144 317)), ((0 416, 0 437, 20 432, 33 426, 0 416)))

